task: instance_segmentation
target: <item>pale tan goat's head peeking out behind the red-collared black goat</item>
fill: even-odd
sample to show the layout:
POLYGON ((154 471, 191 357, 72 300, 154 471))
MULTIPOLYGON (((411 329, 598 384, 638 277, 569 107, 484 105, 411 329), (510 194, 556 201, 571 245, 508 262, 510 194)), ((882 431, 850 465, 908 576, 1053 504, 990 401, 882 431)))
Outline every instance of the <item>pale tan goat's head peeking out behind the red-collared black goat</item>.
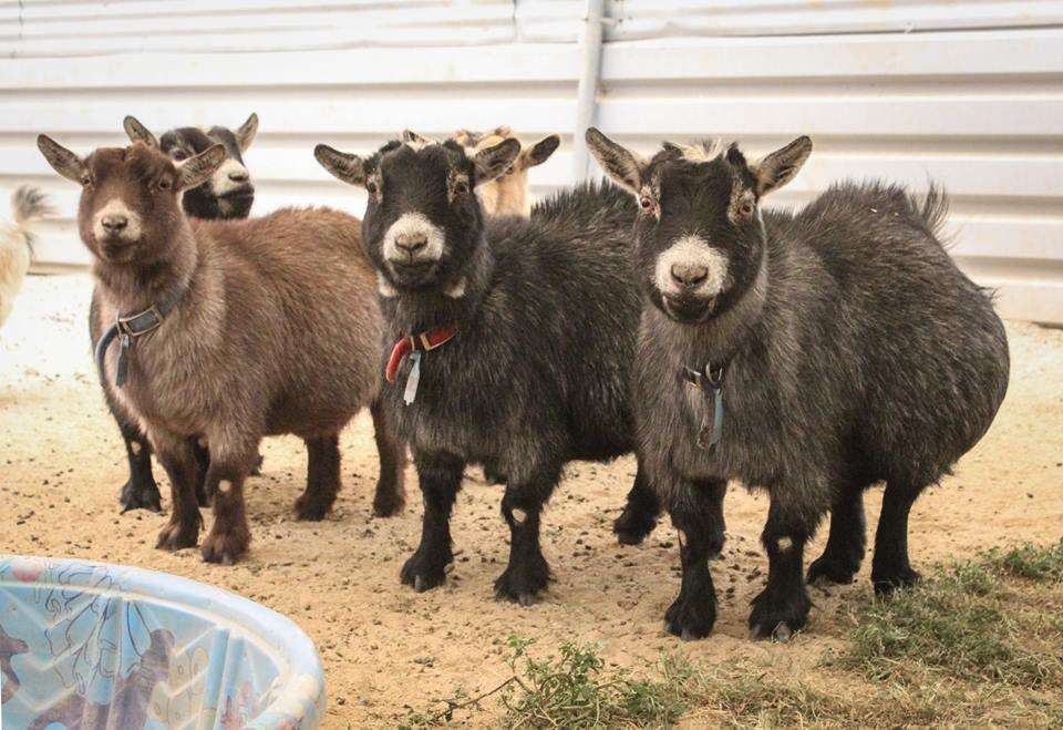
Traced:
MULTIPOLYGON (((481 150, 493 147, 503 140, 517 140, 508 126, 495 127, 489 132, 469 132, 458 130, 454 141, 466 148, 473 156, 481 150)), ((520 142, 517 140, 517 142, 520 142)), ((497 179, 484 183, 476 189, 484 212, 491 216, 515 215, 527 218, 532 215, 532 197, 528 195, 528 169, 541 165, 549 160, 557 150, 561 138, 551 134, 535 144, 520 144, 520 154, 513 161, 513 165, 497 179)))

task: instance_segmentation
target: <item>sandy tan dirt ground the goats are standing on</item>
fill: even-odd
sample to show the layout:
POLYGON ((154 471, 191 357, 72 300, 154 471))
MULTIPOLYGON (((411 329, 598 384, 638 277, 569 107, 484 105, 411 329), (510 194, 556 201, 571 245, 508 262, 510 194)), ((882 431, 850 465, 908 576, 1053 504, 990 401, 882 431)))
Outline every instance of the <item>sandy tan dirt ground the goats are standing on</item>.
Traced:
MULTIPOLYGON (((414 594, 399 584, 399 569, 420 535, 416 475, 412 469, 407 474, 403 515, 371 516, 376 455, 367 414, 344 433, 343 491, 324 522, 292 517, 305 480, 301 442, 269 439, 264 474, 248 486, 249 558, 221 567, 204 564, 193 549, 158 552, 164 516, 118 514, 117 490, 127 472, 89 354, 90 290, 87 275, 31 277, 0 329, 0 552, 167 570, 291 617, 324 662, 327 728, 393 724, 405 705, 423 709, 457 686, 469 693, 493 687, 505 676, 510 633, 536 638, 544 651, 566 640, 601 641, 606 658, 621 666, 644 666, 667 649, 706 664, 745 657, 785 670, 837 640, 843 603, 869 600, 865 561, 856 584, 813 588, 811 626, 795 640, 749 641, 747 605, 767 568, 757 543, 767 502, 732 485, 727 546, 713 564, 721 596, 715 633, 690 644, 667 636, 662 616, 678 590, 674 531, 661 525, 644 545, 623 547, 609 529, 634 474, 630 457, 568 469, 545 517, 544 549, 556 582, 538 605, 492 599, 508 532, 498 514, 500 490, 485 485, 478 470, 467 474, 458 498, 450 582, 414 594)), ((1009 322, 1008 332, 1008 399, 956 476, 917 503, 910 539, 917 567, 994 544, 1063 535, 1063 331, 1009 322)), ((156 476, 168 504, 161 469, 156 476)), ((871 525, 880 497, 880 490, 866 497, 871 525)), ((825 537, 823 529, 809 559, 825 537)))

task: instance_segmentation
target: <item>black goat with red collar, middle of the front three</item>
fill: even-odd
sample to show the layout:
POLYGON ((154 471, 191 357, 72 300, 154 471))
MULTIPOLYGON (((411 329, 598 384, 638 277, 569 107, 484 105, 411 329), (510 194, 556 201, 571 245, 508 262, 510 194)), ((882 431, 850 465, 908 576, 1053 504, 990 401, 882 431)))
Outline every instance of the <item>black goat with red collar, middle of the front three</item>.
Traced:
POLYGON ((495 589, 528 604, 549 579, 540 513, 565 462, 633 445, 628 383, 641 305, 627 254, 634 206, 613 186, 560 193, 529 220, 485 222, 474 187, 519 150, 506 140, 468 157, 453 141, 392 142, 369 158, 326 145, 316 156, 370 194, 362 239, 380 280, 385 354, 401 338, 456 327, 422 353, 410 404, 409 359, 383 389, 424 497, 421 544, 401 579, 419 592, 445 580, 463 470, 495 464, 507 475, 512 536, 495 589))

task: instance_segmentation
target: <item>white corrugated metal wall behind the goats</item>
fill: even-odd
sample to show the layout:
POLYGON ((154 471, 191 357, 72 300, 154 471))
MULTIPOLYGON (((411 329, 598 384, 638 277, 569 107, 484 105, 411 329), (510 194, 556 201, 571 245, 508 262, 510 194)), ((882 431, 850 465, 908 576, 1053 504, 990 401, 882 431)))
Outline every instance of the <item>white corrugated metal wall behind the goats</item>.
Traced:
MULTIPOLYGON (((45 261, 85 261, 78 191, 38 154, 156 130, 261 127, 247 160, 258 212, 363 201, 314 163, 328 141, 369 150, 404 126, 445 134, 509 123, 564 134, 533 171, 569 182, 580 0, 0 0, 0 194, 56 198, 45 261)), ((1011 317, 1063 320, 1063 2, 611 0, 597 124, 659 140, 739 137, 753 152, 816 143, 776 204, 845 176, 953 197, 954 253, 1002 287, 1011 317)))

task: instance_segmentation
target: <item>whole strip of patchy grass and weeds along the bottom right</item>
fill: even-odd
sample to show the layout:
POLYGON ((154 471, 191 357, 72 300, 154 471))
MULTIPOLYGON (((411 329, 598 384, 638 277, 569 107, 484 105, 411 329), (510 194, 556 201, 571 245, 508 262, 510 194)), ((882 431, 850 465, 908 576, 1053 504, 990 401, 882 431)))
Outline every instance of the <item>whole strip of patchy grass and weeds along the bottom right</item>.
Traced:
POLYGON ((507 728, 1063 727, 1061 615, 1063 541, 992 549, 853 608, 844 646, 799 677, 664 655, 640 678, 607 667, 592 644, 537 657, 533 640, 510 636, 505 681, 410 709, 403 727, 471 710, 507 728))

